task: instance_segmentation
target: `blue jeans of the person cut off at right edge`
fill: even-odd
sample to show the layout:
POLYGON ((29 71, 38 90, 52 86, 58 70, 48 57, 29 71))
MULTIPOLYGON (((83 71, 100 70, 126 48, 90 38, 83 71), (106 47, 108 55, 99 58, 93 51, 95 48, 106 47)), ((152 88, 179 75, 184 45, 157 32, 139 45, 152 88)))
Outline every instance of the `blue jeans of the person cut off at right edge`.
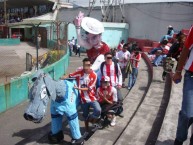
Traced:
POLYGON ((182 107, 178 117, 176 139, 185 141, 188 136, 188 128, 193 123, 193 73, 184 75, 182 107))

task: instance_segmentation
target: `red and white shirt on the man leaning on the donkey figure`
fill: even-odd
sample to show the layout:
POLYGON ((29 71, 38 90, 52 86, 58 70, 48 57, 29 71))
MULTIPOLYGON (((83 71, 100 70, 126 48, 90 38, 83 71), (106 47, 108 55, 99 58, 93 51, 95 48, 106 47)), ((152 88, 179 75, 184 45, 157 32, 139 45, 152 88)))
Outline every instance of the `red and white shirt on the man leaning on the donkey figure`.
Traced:
POLYGON ((82 103, 89 103, 97 100, 95 97, 97 75, 94 71, 91 70, 89 74, 86 74, 83 70, 79 70, 71 73, 69 76, 77 78, 79 87, 88 88, 88 91, 80 91, 82 103))

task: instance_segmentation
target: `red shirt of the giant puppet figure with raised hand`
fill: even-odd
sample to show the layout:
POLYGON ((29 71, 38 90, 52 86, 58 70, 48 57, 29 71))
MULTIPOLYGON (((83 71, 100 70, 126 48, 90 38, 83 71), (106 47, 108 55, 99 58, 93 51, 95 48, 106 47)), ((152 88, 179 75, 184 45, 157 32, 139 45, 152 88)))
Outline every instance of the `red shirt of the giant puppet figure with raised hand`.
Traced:
POLYGON ((102 46, 101 48, 94 48, 92 47, 91 49, 87 50, 86 53, 87 53, 87 56, 88 58, 91 59, 91 63, 93 64, 93 62, 96 60, 96 58, 100 55, 100 54, 105 54, 107 52, 110 52, 110 48, 109 46, 102 42, 102 46))

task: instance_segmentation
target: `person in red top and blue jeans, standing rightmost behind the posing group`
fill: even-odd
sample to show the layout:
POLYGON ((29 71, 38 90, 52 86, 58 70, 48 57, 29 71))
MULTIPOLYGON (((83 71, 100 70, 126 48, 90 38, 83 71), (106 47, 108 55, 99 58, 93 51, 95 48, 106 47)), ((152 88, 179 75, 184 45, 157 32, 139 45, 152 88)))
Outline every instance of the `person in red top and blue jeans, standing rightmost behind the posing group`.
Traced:
POLYGON ((141 54, 139 53, 139 51, 134 51, 130 58, 130 63, 132 65, 132 73, 129 74, 128 90, 130 90, 136 82, 140 59, 141 54))

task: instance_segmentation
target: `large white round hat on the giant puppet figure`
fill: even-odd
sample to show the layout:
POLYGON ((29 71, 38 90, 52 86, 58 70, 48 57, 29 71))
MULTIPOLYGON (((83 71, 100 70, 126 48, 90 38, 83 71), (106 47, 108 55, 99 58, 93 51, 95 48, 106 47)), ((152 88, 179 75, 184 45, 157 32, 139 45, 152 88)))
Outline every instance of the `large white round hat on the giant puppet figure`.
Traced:
POLYGON ((97 19, 84 17, 81 22, 82 28, 91 34, 100 34, 104 32, 103 24, 97 19))

